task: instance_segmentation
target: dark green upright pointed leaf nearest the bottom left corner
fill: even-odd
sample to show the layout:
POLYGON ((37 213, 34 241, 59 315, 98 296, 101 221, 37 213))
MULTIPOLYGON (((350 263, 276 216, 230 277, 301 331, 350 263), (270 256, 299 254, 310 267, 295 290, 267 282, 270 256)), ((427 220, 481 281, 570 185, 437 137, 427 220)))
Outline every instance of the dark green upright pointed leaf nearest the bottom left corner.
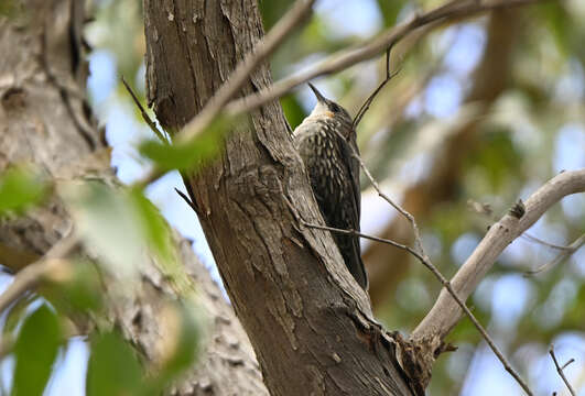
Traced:
POLYGON ((12 395, 43 394, 62 338, 57 317, 46 305, 26 318, 14 346, 17 367, 12 395))

